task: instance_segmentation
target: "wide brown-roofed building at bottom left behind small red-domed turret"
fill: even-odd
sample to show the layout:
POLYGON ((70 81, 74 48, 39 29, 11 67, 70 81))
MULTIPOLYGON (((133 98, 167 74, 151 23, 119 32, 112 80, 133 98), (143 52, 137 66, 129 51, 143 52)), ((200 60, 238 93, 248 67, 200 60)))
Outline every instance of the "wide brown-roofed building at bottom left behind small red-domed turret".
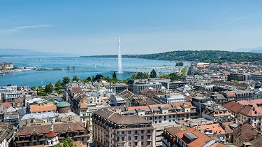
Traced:
POLYGON ((52 123, 29 123, 20 127, 14 140, 14 146, 36 146, 45 145, 46 139, 58 137, 59 141, 71 137, 73 141, 82 141, 87 145, 89 132, 82 126, 82 123, 75 121, 52 123), (53 130, 50 135, 50 130, 53 130))

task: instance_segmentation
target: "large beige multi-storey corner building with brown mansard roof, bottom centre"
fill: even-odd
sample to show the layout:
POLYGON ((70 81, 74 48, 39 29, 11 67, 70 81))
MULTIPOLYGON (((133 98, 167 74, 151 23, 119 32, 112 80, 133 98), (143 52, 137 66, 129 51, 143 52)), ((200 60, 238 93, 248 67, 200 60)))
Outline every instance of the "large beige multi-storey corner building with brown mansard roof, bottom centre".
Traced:
POLYGON ((92 116, 95 146, 153 146, 151 123, 140 116, 122 116, 99 109, 92 116))

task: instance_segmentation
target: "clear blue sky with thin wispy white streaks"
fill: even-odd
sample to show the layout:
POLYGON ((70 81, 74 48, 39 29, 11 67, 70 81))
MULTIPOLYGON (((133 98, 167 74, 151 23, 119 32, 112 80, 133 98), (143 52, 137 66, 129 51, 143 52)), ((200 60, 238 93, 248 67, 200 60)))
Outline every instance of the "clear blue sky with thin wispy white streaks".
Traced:
POLYGON ((0 0, 0 48, 75 55, 262 46, 262 1, 0 0))

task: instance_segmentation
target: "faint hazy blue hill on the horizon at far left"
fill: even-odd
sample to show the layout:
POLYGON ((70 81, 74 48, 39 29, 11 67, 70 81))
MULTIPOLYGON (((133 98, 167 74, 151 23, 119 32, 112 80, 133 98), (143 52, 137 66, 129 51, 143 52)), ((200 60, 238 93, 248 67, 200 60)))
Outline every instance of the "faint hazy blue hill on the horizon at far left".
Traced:
POLYGON ((50 52, 39 52, 36 50, 27 49, 6 49, 0 48, 0 57, 6 56, 62 56, 69 54, 50 53, 50 52))

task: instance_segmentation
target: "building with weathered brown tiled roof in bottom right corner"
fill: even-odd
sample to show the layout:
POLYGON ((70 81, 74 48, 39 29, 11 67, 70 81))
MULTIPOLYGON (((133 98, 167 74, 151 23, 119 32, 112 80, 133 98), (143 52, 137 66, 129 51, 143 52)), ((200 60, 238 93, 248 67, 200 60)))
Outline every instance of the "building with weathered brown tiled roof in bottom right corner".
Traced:
POLYGON ((258 130, 254 129, 249 123, 245 123, 233 130, 233 144, 235 146, 250 145, 248 142, 254 140, 258 135, 258 130))

